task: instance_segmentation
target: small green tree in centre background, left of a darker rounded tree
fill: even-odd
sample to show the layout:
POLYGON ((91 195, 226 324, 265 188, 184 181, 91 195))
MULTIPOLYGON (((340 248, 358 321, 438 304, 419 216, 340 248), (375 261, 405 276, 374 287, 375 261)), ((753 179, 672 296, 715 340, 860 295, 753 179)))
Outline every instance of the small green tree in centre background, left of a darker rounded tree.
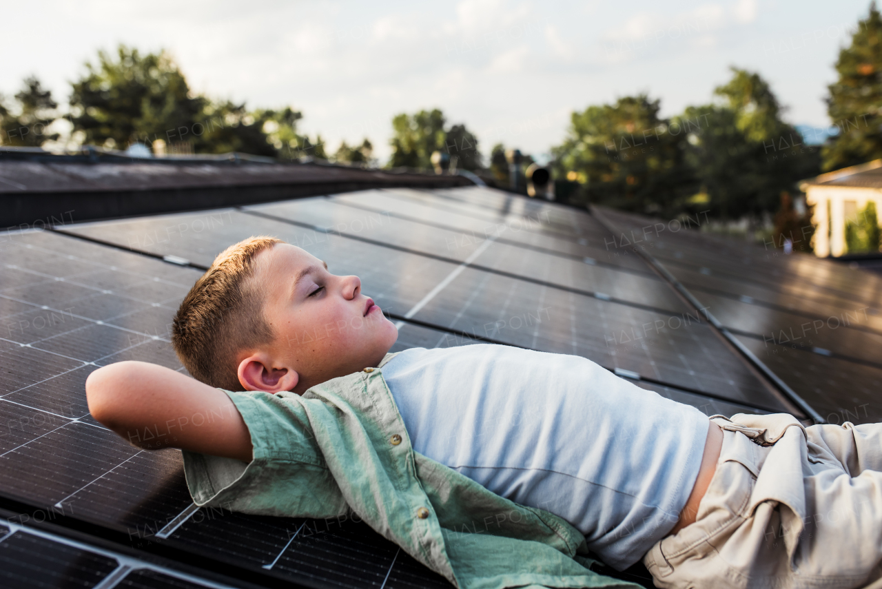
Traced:
POLYGON ((389 168, 432 168, 432 153, 445 149, 444 124, 445 116, 437 108, 392 118, 389 168))

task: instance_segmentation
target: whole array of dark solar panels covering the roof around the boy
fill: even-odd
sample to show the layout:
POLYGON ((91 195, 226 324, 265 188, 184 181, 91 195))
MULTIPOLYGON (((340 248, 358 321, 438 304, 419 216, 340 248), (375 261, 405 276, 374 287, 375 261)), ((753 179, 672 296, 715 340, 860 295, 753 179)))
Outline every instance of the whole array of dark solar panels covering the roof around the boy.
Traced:
POLYGON ((0 234, 0 508, 13 502, 86 522, 92 533, 124 538, 126 554, 13 522, 0 558, 17 564, 0 567, 0 581, 15 586, 30 567, 34 579, 48 575, 45 586, 63 586, 67 575, 64 583, 102 589, 447 585, 361 523, 198 510, 178 451, 139 451, 88 414, 83 385, 100 366, 142 360, 183 370, 168 337, 177 304, 217 253, 250 235, 276 235, 332 272, 359 275, 363 292, 399 325, 395 350, 490 341, 578 354, 706 414, 806 417, 737 338, 819 412, 860 403, 863 421, 877 419, 869 391, 880 374, 870 348, 880 334, 878 284, 814 260, 764 261, 763 250, 723 249, 686 232, 654 239, 654 259, 717 313, 724 333, 647 259, 609 245, 614 232, 643 223, 475 187, 369 190, 0 234), (825 353, 760 337, 829 309, 853 314, 855 305, 869 318, 813 339, 825 353), (154 546, 171 559, 166 568, 155 565, 154 546), (153 560, 133 560, 131 550, 153 560), (180 563, 172 561, 199 563, 202 572, 175 577, 180 563))

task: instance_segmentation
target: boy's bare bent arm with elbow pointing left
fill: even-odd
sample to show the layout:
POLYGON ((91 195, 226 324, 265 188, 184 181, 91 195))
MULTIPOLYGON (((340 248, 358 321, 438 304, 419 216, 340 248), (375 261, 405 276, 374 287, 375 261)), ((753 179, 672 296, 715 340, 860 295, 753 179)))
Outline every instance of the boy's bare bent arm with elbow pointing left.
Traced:
POLYGON ((93 417, 131 444, 250 462, 251 437, 220 389, 147 362, 116 362, 86 379, 93 417))

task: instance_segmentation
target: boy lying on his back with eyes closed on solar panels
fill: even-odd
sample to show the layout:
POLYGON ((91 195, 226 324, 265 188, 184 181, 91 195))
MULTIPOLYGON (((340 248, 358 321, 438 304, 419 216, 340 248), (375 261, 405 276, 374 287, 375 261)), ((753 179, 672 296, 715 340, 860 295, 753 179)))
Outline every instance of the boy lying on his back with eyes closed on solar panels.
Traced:
POLYGON ((882 576, 876 424, 708 419, 585 358, 388 354, 397 337, 357 277, 252 237, 177 311, 193 377, 118 362, 86 381, 89 409, 133 444, 180 448, 198 505, 357 515, 460 587, 629 585, 593 558, 642 559, 660 587, 882 576))

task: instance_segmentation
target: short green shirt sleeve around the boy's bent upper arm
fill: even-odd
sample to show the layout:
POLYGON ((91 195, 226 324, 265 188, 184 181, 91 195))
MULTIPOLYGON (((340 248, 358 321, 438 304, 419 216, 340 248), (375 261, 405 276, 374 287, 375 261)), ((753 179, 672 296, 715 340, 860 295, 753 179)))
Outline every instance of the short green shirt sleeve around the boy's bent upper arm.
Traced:
POLYGON ((224 391, 248 427, 250 462, 183 451, 187 488, 198 506, 280 517, 347 512, 294 393, 224 391))

